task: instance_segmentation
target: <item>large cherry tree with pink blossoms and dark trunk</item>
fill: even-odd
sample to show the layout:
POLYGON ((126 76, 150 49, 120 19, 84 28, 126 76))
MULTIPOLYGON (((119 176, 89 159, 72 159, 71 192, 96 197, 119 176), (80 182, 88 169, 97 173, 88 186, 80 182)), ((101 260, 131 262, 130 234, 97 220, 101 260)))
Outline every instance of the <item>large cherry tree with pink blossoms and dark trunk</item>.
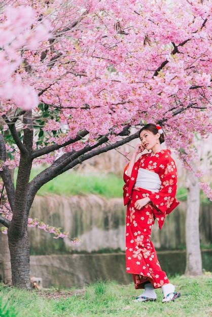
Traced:
POLYGON ((191 169, 195 132, 211 132, 210 10, 206 0, 2 5, 0 155, 8 205, 0 223, 8 228, 13 285, 30 287, 27 224, 37 191, 136 138, 130 127, 162 125, 191 169), (32 165, 42 162, 49 167, 29 181, 32 165))

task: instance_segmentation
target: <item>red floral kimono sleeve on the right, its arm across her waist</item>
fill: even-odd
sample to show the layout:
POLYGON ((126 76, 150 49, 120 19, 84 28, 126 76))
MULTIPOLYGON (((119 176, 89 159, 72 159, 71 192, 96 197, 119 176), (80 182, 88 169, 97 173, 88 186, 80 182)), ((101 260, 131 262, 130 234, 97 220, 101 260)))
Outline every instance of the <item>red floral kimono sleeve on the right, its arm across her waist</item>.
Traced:
POLYGON ((171 156, 162 161, 160 164, 160 173, 158 174, 161 180, 159 192, 149 195, 154 207, 165 213, 166 210, 175 201, 176 184, 178 176, 176 173, 176 165, 171 156))

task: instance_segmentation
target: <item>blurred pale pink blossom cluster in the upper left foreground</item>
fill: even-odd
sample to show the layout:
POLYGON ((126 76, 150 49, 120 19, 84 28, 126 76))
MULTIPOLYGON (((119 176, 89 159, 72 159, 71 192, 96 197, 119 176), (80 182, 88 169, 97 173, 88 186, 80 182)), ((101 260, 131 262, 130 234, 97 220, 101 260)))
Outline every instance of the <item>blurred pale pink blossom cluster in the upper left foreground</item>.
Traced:
MULTIPOLYGON (((0 16, 0 100, 25 110, 36 107, 38 94, 33 85, 22 77, 21 50, 37 49, 49 37, 50 23, 43 20, 36 25, 36 15, 29 6, 8 6, 0 16), (34 24, 34 25, 33 25, 34 24), (31 27, 33 25, 33 27, 31 27), (19 69, 19 70, 18 70, 19 69)), ((4 113, 5 107, 3 107, 4 113)))

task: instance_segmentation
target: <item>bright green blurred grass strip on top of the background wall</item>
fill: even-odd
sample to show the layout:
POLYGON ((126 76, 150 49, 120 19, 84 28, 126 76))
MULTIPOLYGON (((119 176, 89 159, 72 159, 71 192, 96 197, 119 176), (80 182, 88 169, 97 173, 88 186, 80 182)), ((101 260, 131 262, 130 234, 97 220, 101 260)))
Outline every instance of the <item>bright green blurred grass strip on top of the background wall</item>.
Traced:
MULTIPOLYGON (((33 168, 30 174, 30 180, 38 175, 44 168, 33 168)), ((15 184, 17 178, 17 169, 14 174, 15 184)), ((64 196, 98 194, 105 198, 122 197, 122 187, 124 181, 121 177, 113 173, 79 173, 75 170, 67 171, 42 186, 38 194, 45 196, 48 194, 58 194, 64 196)), ((200 191, 201 201, 207 202, 202 191, 200 191)), ((187 200, 187 189, 178 187, 176 198, 180 201, 187 200)))

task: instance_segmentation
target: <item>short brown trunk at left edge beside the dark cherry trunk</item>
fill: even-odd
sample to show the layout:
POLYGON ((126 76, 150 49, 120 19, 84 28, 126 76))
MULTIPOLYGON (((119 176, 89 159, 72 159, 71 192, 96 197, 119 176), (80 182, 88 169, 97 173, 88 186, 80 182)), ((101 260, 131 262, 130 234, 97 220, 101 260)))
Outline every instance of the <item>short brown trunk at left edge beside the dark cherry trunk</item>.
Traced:
POLYGON ((12 285, 12 274, 10 264, 10 251, 8 246, 8 236, 0 231, 0 253, 2 254, 3 263, 3 282, 11 286, 12 285))

